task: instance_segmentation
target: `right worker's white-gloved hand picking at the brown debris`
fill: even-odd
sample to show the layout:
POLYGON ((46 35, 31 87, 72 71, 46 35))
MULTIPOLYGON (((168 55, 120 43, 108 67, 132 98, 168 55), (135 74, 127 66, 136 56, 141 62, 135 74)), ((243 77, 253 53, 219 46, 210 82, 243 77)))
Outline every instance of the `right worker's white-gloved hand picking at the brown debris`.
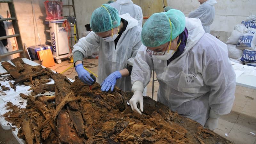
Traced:
POLYGON ((132 92, 133 92, 133 96, 130 99, 129 103, 130 106, 132 108, 132 110, 134 112, 137 112, 141 115, 141 112, 143 112, 143 96, 142 96, 142 92, 143 92, 143 84, 140 81, 136 81, 133 85, 132 85, 132 92), (140 104, 140 110, 137 107, 137 103, 140 104))

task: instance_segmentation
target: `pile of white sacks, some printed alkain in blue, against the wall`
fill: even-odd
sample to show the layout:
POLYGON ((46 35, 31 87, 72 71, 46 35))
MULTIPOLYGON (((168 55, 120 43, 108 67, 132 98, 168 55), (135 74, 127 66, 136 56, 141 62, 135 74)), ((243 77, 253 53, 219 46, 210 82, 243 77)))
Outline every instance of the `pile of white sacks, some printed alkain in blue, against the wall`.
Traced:
POLYGON ((256 67, 256 16, 250 16, 236 25, 231 32, 228 44, 228 57, 231 61, 256 67))

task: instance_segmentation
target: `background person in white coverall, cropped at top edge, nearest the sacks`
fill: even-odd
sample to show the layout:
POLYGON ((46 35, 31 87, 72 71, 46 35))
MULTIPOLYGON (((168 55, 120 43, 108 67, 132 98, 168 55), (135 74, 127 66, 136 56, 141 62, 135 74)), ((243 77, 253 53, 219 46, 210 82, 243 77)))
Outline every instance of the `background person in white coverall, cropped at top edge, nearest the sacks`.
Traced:
POLYGON ((210 25, 215 17, 214 4, 217 4, 216 0, 198 0, 201 4, 195 11, 190 12, 189 18, 198 18, 201 20, 204 31, 210 33, 210 25))

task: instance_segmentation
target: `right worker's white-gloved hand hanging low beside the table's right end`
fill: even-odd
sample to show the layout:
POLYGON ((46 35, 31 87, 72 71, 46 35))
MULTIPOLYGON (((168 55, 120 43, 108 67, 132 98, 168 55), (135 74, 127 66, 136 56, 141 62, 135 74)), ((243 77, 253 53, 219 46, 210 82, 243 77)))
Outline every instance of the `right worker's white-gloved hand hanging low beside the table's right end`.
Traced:
POLYGON ((204 124, 205 128, 208 128, 210 130, 215 130, 218 126, 220 115, 215 114, 215 112, 211 109, 209 118, 207 119, 206 123, 204 124))

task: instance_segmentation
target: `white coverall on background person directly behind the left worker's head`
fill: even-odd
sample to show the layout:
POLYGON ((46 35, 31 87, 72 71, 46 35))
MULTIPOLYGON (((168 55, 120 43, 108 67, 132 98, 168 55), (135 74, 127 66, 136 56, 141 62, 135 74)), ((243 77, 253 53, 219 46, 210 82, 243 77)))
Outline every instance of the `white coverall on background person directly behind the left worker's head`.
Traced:
POLYGON ((134 19, 138 20, 139 26, 142 27, 142 9, 139 5, 133 4, 132 0, 117 0, 109 5, 116 8, 119 15, 129 13, 134 19))

